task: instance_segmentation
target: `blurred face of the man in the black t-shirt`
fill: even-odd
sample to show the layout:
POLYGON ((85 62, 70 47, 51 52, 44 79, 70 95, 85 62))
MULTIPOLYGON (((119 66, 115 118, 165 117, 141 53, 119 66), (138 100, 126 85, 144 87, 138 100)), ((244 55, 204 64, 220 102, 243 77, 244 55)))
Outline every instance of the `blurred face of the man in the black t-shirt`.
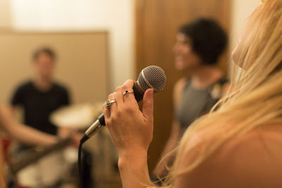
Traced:
POLYGON ((48 54, 41 53, 33 63, 35 71, 40 77, 51 78, 54 73, 54 58, 48 54))

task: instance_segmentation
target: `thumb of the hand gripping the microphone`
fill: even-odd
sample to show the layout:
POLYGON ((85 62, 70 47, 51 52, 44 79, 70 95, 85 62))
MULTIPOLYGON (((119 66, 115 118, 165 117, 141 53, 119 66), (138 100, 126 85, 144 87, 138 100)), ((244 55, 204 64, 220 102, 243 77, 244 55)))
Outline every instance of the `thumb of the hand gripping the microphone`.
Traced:
POLYGON ((142 113, 147 120, 153 120, 154 113, 154 89, 147 89, 143 96, 142 113))

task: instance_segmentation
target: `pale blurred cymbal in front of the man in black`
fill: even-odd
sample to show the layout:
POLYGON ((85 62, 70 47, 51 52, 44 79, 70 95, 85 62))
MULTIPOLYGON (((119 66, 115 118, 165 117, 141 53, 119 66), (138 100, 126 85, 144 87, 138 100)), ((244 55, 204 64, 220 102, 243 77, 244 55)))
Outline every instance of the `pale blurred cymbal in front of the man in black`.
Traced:
POLYGON ((102 102, 64 106, 51 113, 51 123, 58 127, 86 128, 102 113, 102 102))

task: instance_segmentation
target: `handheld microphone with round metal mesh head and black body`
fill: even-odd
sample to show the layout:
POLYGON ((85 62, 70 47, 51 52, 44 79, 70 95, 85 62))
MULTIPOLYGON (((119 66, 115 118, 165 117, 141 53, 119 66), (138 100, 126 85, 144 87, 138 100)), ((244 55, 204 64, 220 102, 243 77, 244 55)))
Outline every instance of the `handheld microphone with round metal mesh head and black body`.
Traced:
MULTIPOLYGON (((164 70, 156 65, 151 65, 147 68, 144 68, 141 71, 137 82, 135 82, 133 85, 133 92, 136 101, 142 101, 143 95, 147 89, 154 89, 154 93, 156 93, 163 90, 165 85, 166 75, 164 70)), ((80 139, 80 143, 85 142, 87 139, 96 134, 103 125, 106 125, 104 113, 99 115, 97 120, 85 131, 84 136, 80 139)))

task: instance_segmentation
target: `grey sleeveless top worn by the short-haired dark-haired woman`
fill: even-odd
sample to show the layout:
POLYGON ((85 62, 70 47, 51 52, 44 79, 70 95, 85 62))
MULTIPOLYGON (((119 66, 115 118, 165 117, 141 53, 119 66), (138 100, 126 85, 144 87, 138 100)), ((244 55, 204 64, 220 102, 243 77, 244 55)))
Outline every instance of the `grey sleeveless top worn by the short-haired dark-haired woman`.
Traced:
MULTIPOLYGON (((219 80, 216 84, 223 84, 221 82, 226 82, 219 80)), ((178 108, 176 108, 175 118, 180 125, 181 134, 185 132, 187 127, 197 118, 209 113, 210 109, 216 102, 219 100, 218 97, 213 97, 211 91, 214 88, 214 85, 204 88, 197 89, 192 86, 191 80, 183 87, 183 94, 178 103, 178 108)), ((221 89, 221 87, 220 87, 221 89)), ((220 90, 221 93, 221 90, 220 90)))

